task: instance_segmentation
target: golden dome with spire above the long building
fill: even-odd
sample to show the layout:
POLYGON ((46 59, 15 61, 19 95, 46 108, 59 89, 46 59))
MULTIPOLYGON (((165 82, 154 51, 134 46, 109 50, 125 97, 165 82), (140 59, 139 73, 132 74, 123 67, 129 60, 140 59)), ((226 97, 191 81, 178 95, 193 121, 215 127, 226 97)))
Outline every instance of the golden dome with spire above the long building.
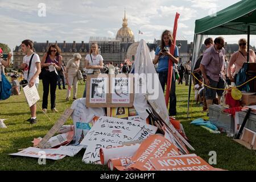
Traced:
POLYGON ((116 40, 120 40, 123 43, 134 43, 134 34, 133 31, 128 27, 127 18, 125 13, 125 18, 123 18, 123 27, 120 28, 117 32, 116 40))

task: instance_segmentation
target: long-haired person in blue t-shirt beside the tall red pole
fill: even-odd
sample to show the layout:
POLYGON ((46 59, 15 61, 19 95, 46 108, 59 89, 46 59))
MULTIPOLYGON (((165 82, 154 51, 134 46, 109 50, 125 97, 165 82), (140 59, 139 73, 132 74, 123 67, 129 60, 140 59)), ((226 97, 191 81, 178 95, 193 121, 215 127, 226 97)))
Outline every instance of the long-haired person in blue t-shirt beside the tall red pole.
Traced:
MULTIPOLYGON (((161 44, 155 50, 155 59, 153 61, 154 64, 158 63, 158 77, 160 84, 162 86, 163 92, 164 88, 167 84, 168 78, 168 67, 169 61, 172 61, 172 64, 178 64, 179 62, 179 49, 175 46, 174 56, 170 53, 170 47, 174 44, 174 38, 172 36, 172 32, 170 30, 165 30, 161 36, 161 44)), ((174 65, 175 67, 175 65, 174 65)), ((169 114, 176 115, 176 94, 175 94, 175 69, 172 72, 172 80, 171 80, 171 91, 170 91, 170 108, 169 114)))

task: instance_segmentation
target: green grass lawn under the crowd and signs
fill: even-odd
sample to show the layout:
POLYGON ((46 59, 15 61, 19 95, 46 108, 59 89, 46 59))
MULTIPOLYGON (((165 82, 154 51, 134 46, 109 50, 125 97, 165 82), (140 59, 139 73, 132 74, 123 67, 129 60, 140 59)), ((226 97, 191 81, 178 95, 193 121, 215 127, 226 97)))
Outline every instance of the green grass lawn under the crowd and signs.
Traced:
MULTIPOLYGON (((44 137, 51 129, 55 121, 60 117, 65 109, 72 105, 72 101, 65 101, 67 90, 56 90, 56 109, 59 113, 47 114, 51 121, 40 111, 38 107, 38 123, 30 125, 26 119, 30 118, 30 110, 25 101, 24 94, 11 96, 8 100, 0 101, 0 118, 6 118, 7 129, 0 129, 0 170, 108 170, 106 166, 84 164, 82 156, 84 150, 79 154, 64 159, 53 161, 47 160, 46 165, 39 165, 38 159, 10 156, 7 154, 18 152, 20 148, 32 146, 31 141, 37 137, 44 137)), ((77 96, 82 97, 84 85, 79 84, 77 96)), ((42 82, 39 85, 40 98, 43 96, 42 82)), ((217 153, 216 168, 228 170, 256 170, 255 151, 234 142, 226 134, 210 134, 207 130, 189 123, 196 118, 207 119, 205 113, 201 113, 202 108, 192 101, 190 116, 187 118, 188 86, 177 85, 177 119, 182 122, 185 133, 190 140, 190 144, 196 149, 195 154, 208 162, 210 151, 217 153)), ((193 93, 191 94, 193 98, 193 93)), ((42 106, 42 101, 39 101, 42 106)), ((48 103, 48 109, 50 103, 48 103)), ((69 124, 72 120, 69 119, 69 124)))

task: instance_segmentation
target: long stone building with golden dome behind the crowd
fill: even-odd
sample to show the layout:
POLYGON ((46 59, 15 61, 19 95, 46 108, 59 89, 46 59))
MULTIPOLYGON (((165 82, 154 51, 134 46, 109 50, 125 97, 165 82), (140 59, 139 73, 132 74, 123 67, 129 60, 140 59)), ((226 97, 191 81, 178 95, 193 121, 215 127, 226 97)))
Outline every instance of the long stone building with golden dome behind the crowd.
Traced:
MULTIPOLYGON (((85 56, 89 53, 90 45, 93 42, 97 42, 100 48, 100 53, 104 59, 104 63, 107 64, 110 61, 113 61, 115 64, 121 64, 125 59, 129 59, 130 61, 135 60, 135 55, 137 51, 137 47, 139 42, 134 42, 134 34, 133 31, 128 27, 126 13, 124 18, 122 19, 122 27, 118 30, 115 38, 102 38, 102 37, 90 37, 89 42, 85 43, 84 41, 77 43, 73 41, 73 43, 64 42, 53 42, 57 44, 57 46, 61 49, 61 56, 63 56, 63 61, 67 64, 68 60, 72 58, 73 54, 79 52, 82 56, 80 68, 84 68, 85 66, 85 56)), ((49 45, 52 44, 48 40, 45 43, 37 43, 34 42, 35 52, 38 53, 40 58, 43 57, 44 53, 47 52, 49 45)), ((176 45, 180 44, 179 48, 179 63, 185 63, 188 60, 192 60, 192 52, 193 52, 193 43, 188 43, 182 37, 176 38, 176 45)), ((155 51, 156 47, 160 45, 160 40, 154 40, 153 43, 147 43, 150 51, 155 51)), ((225 43, 226 56, 229 57, 232 55, 234 51, 238 50, 237 44, 227 44, 225 43)), ((205 47, 201 48, 201 54, 205 50, 205 47)), ((24 53, 19 46, 13 51, 14 57, 14 69, 18 69, 19 65, 22 64, 24 53)))

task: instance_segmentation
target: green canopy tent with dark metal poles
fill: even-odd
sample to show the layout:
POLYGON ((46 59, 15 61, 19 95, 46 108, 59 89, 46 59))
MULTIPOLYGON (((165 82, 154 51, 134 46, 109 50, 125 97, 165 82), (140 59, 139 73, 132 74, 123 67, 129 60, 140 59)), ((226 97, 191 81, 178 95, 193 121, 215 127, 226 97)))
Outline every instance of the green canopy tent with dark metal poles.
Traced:
MULTIPOLYGON (((207 35, 245 35, 250 44, 250 34, 256 35, 256 1, 242 0, 216 14, 196 20, 193 44, 192 70, 195 67, 200 48, 207 35)), ((249 46, 248 46, 249 49, 249 46)), ((249 51, 248 51, 249 53, 249 51)), ((249 59, 249 56, 247 56, 249 59)), ((191 80, 189 81, 188 110, 191 94, 191 80)))

